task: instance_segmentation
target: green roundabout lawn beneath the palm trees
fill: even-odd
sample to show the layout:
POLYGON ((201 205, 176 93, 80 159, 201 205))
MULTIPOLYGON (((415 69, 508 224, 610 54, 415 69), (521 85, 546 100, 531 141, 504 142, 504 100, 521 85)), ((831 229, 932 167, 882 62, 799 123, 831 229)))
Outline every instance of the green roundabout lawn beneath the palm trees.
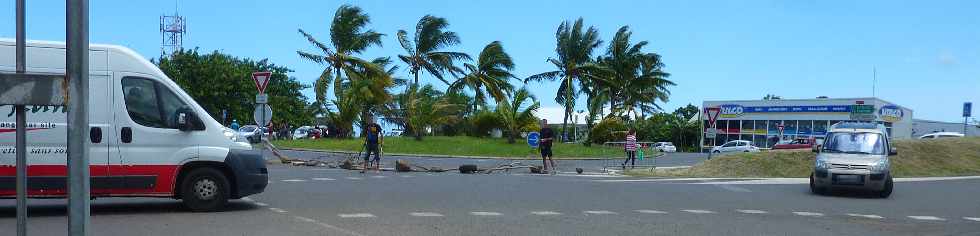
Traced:
MULTIPOLYGON (((361 150, 362 139, 317 139, 317 140, 278 140, 273 144, 280 148, 303 148, 327 151, 361 150)), ((524 140, 508 144, 507 139, 474 138, 468 136, 427 136, 422 141, 412 137, 386 137, 384 144, 386 153, 400 154, 430 154, 453 156, 484 156, 503 158, 540 158, 535 149, 531 149, 524 140)), ((552 147, 555 159, 562 158, 621 158, 622 148, 602 147, 593 145, 586 147, 582 144, 556 143, 552 147)))

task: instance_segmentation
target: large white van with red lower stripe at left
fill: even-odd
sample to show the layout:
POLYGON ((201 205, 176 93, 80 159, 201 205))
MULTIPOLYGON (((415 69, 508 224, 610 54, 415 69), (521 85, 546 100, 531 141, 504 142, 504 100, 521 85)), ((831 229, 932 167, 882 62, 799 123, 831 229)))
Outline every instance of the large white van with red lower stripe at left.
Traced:
MULTIPOLYGON (((93 197, 182 199, 194 211, 261 193, 265 161, 142 56, 124 47, 89 49, 93 197), (183 118, 183 119, 178 119, 183 118), (180 120, 180 122, 178 121, 180 120)), ((0 39, 0 72, 14 73, 15 43, 0 39)), ((65 73, 65 44, 29 41, 29 73, 65 73)), ((29 197, 64 197, 65 106, 27 106, 29 197)), ((15 197, 14 106, 0 106, 0 198, 15 197)))

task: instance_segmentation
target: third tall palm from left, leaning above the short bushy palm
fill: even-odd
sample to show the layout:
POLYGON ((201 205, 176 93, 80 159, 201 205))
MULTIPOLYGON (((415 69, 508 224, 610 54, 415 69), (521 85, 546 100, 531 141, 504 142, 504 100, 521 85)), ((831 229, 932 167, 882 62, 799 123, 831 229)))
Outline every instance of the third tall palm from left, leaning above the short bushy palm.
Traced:
POLYGON ((507 82, 510 78, 517 78, 510 73, 514 69, 514 61, 504 51, 500 41, 487 44, 480 52, 476 65, 464 63, 463 66, 469 73, 453 82, 447 93, 457 93, 464 88, 473 90, 473 110, 478 105, 486 105, 488 95, 495 103, 500 103, 514 90, 514 86, 507 82))

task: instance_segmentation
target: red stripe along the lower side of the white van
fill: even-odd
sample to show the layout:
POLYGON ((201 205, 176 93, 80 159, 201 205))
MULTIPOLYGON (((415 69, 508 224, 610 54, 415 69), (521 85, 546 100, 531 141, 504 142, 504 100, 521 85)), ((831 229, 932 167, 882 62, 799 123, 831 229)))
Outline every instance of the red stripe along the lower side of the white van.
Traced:
MULTIPOLYGON (((112 196, 112 195, 152 195, 170 196, 174 193, 174 181, 177 178, 178 165, 91 165, 89 166, 90 176, 127 176, 127 175, 149 175, 156 176, 156 184, 152 189, 92 189, 92 196, 112 196)), ((66 176, 67 166, 63 165, 30 165, 27 167, 27 176, 66 176)), ((14 166, 0 167, 0 176, 16 176, 17 169, 14 166)), ((10 197, 16 195, 16 190, 0 190, 0 196, 10 197)), ((64 196, 66 189, 45 189, 30 190, 30 196, 64 196)))

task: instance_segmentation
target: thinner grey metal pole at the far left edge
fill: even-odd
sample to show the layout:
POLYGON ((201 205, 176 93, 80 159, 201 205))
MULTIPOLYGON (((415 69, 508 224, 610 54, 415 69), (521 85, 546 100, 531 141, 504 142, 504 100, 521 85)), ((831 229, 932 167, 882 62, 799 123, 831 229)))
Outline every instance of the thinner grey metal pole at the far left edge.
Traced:
MULTIPOLYGON (((26 24, 26 14, 27 11, 25 0, 17 0, 17 36, 16 36, 16 57, 17 62, 16 72, 18 74, 23 74, 27 72, 27 35, 25 35, 25 24, 26 24)), ((24 110, 27 107, 24 105, 15 105, 14 110, 17 110, 16 114, 16 129, 15 134, 16 141, 16 152, 17 152, 17 177, 16 177, 16 188, 17 188, 17 235, 27 236, 27 114, 24 110)))

